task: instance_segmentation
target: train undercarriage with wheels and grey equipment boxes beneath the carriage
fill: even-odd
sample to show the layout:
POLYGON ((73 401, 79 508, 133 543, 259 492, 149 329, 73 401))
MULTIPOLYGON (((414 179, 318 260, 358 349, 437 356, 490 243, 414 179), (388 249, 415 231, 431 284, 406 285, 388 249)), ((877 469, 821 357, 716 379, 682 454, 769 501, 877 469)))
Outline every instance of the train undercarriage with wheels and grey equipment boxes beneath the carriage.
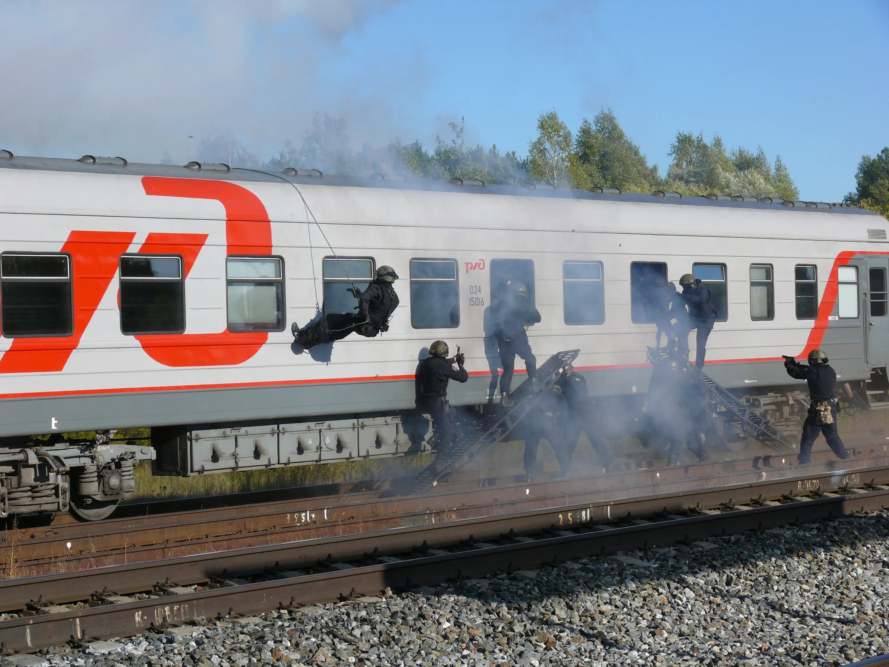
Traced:
MULTIPOLYGON (((884 369, 875 371, 869 382, 840 385, 837 393, 847 414, 889 406, 884 369)), ((784 387, 734 396, 786 437, 798 438, 809 406, 805 390, 784 387)), ((604 438, 636 437, 645 444, 645 396, 597 402, 604 438)), ((471 421, 472 415, 491 409, 469 406, 466 412, 471 421)), ((742 453, 748 448, 751 438, 743 430, 713 422, 719 449, 742 453)), ((0 518, 66 511, 82 520, 107 518, 136 490, 134 468, 140 461, 151 461, 154 475, 188 477, 428 454, 429 430, 425 415, 401 411, 348 419, 337 415, 301 422, 160 427, 151 429, 150 445, 115 438, 115 431, 67 441, 59 434, 7 438, 0 443, 0 518)))

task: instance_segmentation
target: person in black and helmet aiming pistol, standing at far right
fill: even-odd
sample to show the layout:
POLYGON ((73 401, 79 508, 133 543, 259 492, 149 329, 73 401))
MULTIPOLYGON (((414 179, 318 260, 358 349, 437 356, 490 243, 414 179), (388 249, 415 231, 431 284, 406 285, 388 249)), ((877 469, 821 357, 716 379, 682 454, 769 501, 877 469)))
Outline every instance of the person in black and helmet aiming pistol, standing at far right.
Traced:
POLYGON ((796 359, 785 358, 784 367, 790 377, 808 383, 809 398, 812 401, 803 424, 797 462, 809 462, 812 446, 819 432, 824 434, 837 458, 849 458, 849 450, 845 448, 837 431, 837 372, 828 365, 827 354, 824 350, 812 350, 809 352, 809 366, 803 366, 796 359))

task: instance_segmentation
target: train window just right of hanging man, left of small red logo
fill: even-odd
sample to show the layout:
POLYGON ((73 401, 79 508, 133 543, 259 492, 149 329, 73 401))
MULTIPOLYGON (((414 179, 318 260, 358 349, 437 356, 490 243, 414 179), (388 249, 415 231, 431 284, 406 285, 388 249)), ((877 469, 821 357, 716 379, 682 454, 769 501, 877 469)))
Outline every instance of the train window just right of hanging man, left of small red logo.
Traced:
POLYGON ((460 326, 456 260, 411 260, 411 325, 414 329, 460 326))

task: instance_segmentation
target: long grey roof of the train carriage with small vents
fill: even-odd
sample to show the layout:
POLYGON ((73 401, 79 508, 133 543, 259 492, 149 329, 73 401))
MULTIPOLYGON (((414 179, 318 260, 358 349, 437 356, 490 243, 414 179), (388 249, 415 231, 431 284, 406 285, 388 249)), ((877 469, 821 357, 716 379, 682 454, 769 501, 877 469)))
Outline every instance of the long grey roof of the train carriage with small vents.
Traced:
MULTIPOLYGON (((84 156, 88 157, 88 156, 84 156)), ((0 169, 19 169, 27 171, 71 172, 71 173, 103 173, 132 176, 161 176, 168 178, 194 178, 209 179, 214 181, 241 181, 280 183, 287 182, 293 185, 325 185, 332 187, 348 188, 373 188, 373 189, 397 189, 420 190, 430 192, 461 192, 465 194, 485 195, 509 195, 513 197, 553 197, 558 199, 586 199, 592 201, 607 202, 636 202, 661 205, 691 205, 691 206, 717 206, 729 208, 746 208, 760 210, 783 210, 798 213, 843 213, 851 215, 874 215, 882 217, 878 213, 861 209, 851 205, 824 204, 815 202, 797 202, 797 205, 781 205, 767 202, 725 201, 709 199, 707 197, 692 196, 657 196, 653 194, 622 192, 621 194, 609 194, 590 192, 581 189, 549 189, 541 186, 531 188, 512 185, 491 184, 461 184, 451 181, 428 181, 425 179, 405 178, 400 175, 374 174, 373 176, 340 176, 340 175, 302 175, 300 173, 275 173, 258 169, 243 167, 226 167, 227 165, 151 165, 147 163, 132 163, 111 158, 116 164, 102 162, 109 158, 95 158, 97 161, 65 159, 60 157, 21 157, 12 156, 9 151, 0 151, 0 169), (211 167, 211 168, 206 168, 211 167)), ((312 172, 315 170, 300 170, 300 172, 312 172)), ((459 181, 459 180, 457 180, 459 181)), ((479 181, 480 182, 480 181, 479 181)), ((469 183, 469 180, 468 180, 469 183)))

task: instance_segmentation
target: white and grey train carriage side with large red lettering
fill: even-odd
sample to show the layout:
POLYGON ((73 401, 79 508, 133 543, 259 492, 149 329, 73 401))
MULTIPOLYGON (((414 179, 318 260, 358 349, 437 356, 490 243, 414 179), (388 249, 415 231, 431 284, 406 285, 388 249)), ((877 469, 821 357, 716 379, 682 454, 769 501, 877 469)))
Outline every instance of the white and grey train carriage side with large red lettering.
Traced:
MULTIPOLYGON (((719 283, 711 286, 725 293, 726 312, 709 338, 707 372, 725 387, 789 385, 781 354, 815 347, 828 350, 841 382, 862 382, 889 361, 886 229, 884 218, 850 207, 0 159, 0 263, 64 255, 68 274, 55 277, 72 298, 70 330, 52 335, 15 333, 28 323, 17 325, 0 302, 0 437, 382 419, 413 407, 418 359, 439 338, 467 358, 470 381, 452 387, 452 403, 484 404, 498 365, 486 327, 492 271, 503 269, 533 276, 537 357, 580 349, 575 367, 597 395, 646 390, 655 325, 634 321, 639 262, 662 263, 672 281, 697 270, 719 283), (166 323, 151 332, 135 317, 146 333, 124 333, 122 258, 140 255, 179 259, 180 331, 166 323), (401 306, 377 338, 353 334, 302 352, 290 323, 305 325, 324 308, 325 283, 331 294, 348 286, 341 275, 325 280, 336 273, 334 256, 394 267, 401 306), (238 275, 227 276, 232 258, 271 258, 280 268, 283 312, 253 326, 272 330, 230 325, 232 309, 243 319, 252 308, 238 301, 238 275), (574 294, 597 314, 579 315, 574 294)), ((15 262, 0 272, 11 294, 15 262)), ((364 271, 361 261, 347 267, 364 271)), ((257 308, 268 309, 272 291, 257 308)), ((284 462, 275 454, 274 464, 284 462)))

